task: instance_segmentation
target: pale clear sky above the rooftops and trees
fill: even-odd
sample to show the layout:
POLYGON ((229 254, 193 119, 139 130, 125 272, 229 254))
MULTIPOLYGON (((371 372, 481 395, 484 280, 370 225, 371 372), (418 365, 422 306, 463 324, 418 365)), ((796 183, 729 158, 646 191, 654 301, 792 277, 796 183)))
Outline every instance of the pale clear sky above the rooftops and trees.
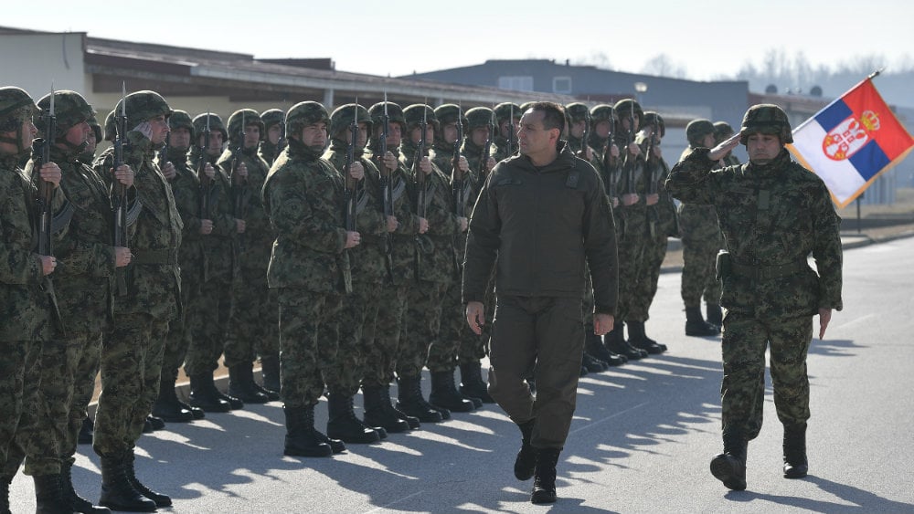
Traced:
POLYGON ((640 72, 665 54, 688 79, 760 67, 771 49, 813 66, 882 56, 914 66, 909 0, 578 0, 576 2, 274 0, 5 2, 0 25, 88 32, 257 58, 332 58, 399 76, 488 58, 570 59, 640 72), (119 5, 120 8, 113 8, 119 5))

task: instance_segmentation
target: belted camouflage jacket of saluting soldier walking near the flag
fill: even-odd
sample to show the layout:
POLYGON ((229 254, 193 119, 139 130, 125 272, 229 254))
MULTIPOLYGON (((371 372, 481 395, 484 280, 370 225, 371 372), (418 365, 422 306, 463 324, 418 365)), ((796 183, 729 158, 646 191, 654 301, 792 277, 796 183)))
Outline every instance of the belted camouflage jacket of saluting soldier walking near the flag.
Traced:
POLYGON ((757 318, 840 310, 841 218, 822 180, 783 149, 771 163, 713 173, 708 152, 677 163, 666 188, 717 210, 734 269, 723 277, 720 304, 757 318), (818 273, 806 265, 810 254, 818 273))

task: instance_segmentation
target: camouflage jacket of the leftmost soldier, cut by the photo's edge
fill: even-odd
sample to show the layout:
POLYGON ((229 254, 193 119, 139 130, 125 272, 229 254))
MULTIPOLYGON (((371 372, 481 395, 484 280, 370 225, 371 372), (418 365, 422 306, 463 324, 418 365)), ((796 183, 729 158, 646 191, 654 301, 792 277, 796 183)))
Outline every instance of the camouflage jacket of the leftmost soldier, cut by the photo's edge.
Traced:
POLYGON ((0 341, 45 340, 53 330, 41 262, 34 251, 32 203, 37 191, 18 163, 19 156, 0 156, 0 341))

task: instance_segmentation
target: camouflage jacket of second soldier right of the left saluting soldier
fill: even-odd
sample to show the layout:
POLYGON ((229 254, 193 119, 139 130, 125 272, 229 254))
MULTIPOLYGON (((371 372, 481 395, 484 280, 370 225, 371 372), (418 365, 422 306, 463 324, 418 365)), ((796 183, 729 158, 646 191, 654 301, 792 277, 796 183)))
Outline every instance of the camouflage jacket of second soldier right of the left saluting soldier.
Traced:
MULTIPOLYGON (((201 152, 192 147, 187 155, 187 166, 192 170, 200 167, 201 152)), ((215 163, 216 159, 206 155, 207 162, 216 168, 216 175, 209 185, 208 215, 213 221, 213 231, 203 236, 206 255, 204 279, 231 283, 238 272, 238 226, 235 223, 234 205, 231 199, 231 184, 226 171, 215 163)), ((201 194, 203 194, 202 190, 201 194)), ((204 213, 202 215, 207 215, 204 213)))

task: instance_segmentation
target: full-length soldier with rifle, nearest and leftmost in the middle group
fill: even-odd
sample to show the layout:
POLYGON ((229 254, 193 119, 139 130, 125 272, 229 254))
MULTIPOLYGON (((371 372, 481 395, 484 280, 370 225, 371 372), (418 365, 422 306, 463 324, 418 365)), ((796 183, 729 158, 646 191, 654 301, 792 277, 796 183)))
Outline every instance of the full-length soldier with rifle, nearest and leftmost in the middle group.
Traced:
MULTIPOLYGON (((343 177, 321 159, 330 118, 324 106, 304 101, 286 113, 289 146, 273 163, 261 199, 273 230, 267 280, 279 300, 280 394, 285 403, 288 456, 330 456, 345 444, 314 428, 314 405, 324 393, 323 373, 335 359, 343 295, 352 290, 348 248, 361 241, 346 230, 343 177)), ((355 163, 353 178, 362 178, 355 163)))

